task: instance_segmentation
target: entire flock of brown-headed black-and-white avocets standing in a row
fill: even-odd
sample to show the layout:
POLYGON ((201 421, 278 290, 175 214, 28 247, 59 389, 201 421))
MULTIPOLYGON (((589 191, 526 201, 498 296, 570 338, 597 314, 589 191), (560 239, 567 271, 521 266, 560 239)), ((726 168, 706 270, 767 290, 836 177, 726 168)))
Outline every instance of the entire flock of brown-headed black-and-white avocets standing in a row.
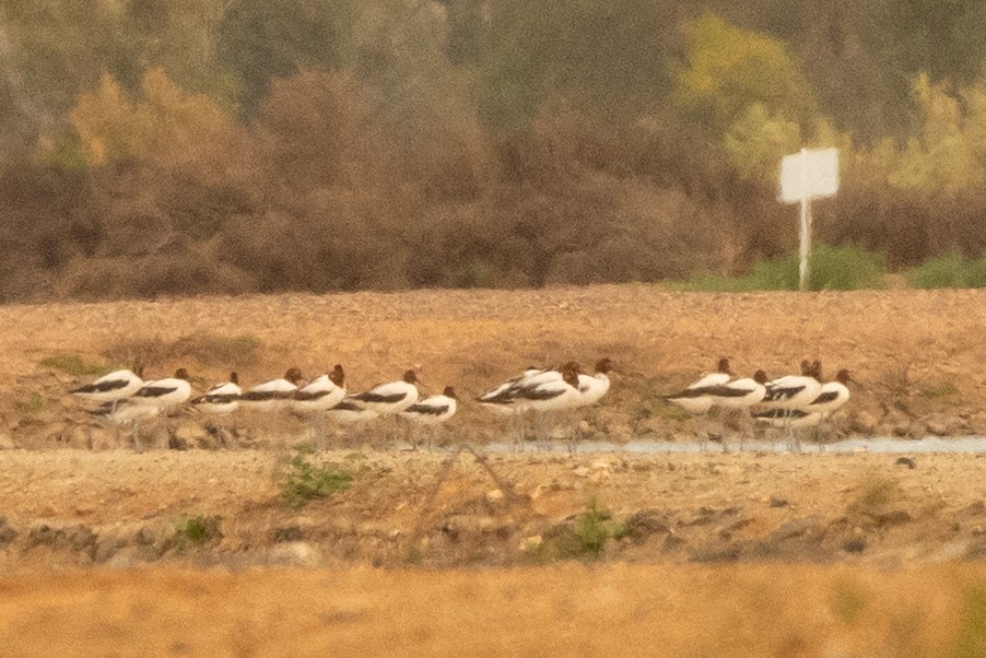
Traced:
MULTIPOLYGON (((590 407, 609 391, 609 373, 613 364, 609 359, 596 363, 596 372, 579 372, 577 363, 568 362, 559 368, 529 367, 523 374, 507 379, 500 386, 479 396, 484 408, 508 415, 516 424, 516 445, 524 449, 528 438, 526 416, 533 415, 541 427, 535 438, 544 438, 543 424, 559 412, 590 407)), ((457 411, 458 399, 451 387, 442 395, 421 398, 414 371, 407 371, 401 379, 380 384, 369 390, 349 393, 345 373, 341 365, 327 374, 305 380, 298 368, 290 368, 283 377, 242 388, 236 373, 230 379, 216 384, 204 395, 192 398, 189 375, 179 368, 173 377, 144 380, 142 369, 116 371, 95 381, 70 391, 72 395, 98 402, 93 415, 120 424, 131 424, 134 447, 139 445, 139 424, 162 412, 190 404, 193 409, 219 416, 227 416, 237 410, 253 410, 274 418, 273 412, 293 410, 309 414, 316 422, 319 443, 325 442, 327 421, 352 425, 364 421, 390 416, 412 424, 434 427, 444 423, 457 411)), ((700 436, 708 437, 708 412, 714 408, 749 411, 751 418, 788 430, 793 447, 798 448, 794 428, 803 425, 819 427, 821 423, 849 399, 846 384, 848 372, 841 371, 834 381, 821 384, 821 364, 815 361, 801 363, 801 374, 768 381, 763 371, 753 377, 735 378, 729 361, 721 359, 716 372, 703 375, 685 389, 665 396, 679 404, 702 424, 700 436)), ((725 439, 726 423, 723 423, 725 439)), ((572 433, 568 433, 572 437, 572 433)), ((432 435, 427 434, 431 448, 432 435)), ((414 445, 414 442, 412 442, 414 445)), ((574 449, 574 443, 570 443, 574 449)), ((704 445, 704 440, 703 440, 704 445)), ((726 447, 724 440, 724 449, 726 447)), ((742 447, 742 446, 740 446, 742 447)))

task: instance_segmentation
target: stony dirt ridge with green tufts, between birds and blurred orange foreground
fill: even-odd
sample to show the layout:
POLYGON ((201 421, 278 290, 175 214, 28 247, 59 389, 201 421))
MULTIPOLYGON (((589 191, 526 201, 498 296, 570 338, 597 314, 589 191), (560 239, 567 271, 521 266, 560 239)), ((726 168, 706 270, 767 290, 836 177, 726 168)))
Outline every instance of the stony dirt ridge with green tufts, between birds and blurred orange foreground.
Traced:
POLYGON ((8 451, 5 568, 986 556, 986 460, 926 455, 8 451), (295 495, 331 465, 326 497, 295 495), (911 468, 914 467, 914 468, 911 468), (331 492, 331 493, 330 493, 331 492))

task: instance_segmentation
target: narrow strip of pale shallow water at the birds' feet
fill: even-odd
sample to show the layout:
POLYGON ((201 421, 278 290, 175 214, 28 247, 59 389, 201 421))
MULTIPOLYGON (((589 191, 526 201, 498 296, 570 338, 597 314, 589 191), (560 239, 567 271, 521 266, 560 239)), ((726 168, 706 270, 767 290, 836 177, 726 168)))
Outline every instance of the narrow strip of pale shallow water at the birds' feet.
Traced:
MULTIPOLYGON (((488 453, 508 453, 510 444, 495 443, 483 446, 483 450, 488 453)), ((547 446, 535 447, 526 446, 528 451, 548 451, 548 453, 567 453, 568 444, 554 442, 547 446)), ((739 449, 739 443, 730 440, 728 445, 730 453, 739 449)), ((633 454, 666 454, 666 453, 708 453, 715 454, 723 451, 721 444, 708 443, 702 446, 697 442, 677 443, 670 440, 657 439, 637 439, 625 444, 617 444, 610 442, 580 442, 578 444, 579 453, 633 453, 633 454)), ((787 444, 784 440, 746 440, 743 442, 744 453, 789 453, 787 444)), ((802 453, 818 453, 819 446, 814 443, 802 443, 802 453)), ((883 454, 912 454, 912 453, 969 453, 969 454, 986 454, 986 437, 983 436, 961 436, 952 438, 941 438, 938 436, 928 436, 925 438, 849 438, 836 443, 825 444, 824 453, 883 453, 883 454)))

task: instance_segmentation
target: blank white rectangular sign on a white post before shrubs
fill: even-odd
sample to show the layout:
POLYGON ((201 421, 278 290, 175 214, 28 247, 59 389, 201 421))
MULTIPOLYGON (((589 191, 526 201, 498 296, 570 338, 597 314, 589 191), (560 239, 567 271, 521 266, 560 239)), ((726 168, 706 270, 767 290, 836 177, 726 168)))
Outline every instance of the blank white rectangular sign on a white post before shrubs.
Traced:
POLYGON ((801 149, 780 161, 780 201, 801 203, 798 287, 808 290, 811 255, 811 200, 832 197, 838 190, 838 150, 801 149))

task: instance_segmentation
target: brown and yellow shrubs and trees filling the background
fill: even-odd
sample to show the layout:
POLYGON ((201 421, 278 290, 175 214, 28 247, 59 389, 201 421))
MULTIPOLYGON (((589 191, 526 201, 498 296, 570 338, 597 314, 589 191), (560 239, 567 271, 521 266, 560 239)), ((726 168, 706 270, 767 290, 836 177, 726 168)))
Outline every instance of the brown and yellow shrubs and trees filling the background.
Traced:
POLYGON ((977 0, 2 0, 0 301, 770 278, 777 162, 822 145, 823 243, 973 284, 984 31, 977 0))

